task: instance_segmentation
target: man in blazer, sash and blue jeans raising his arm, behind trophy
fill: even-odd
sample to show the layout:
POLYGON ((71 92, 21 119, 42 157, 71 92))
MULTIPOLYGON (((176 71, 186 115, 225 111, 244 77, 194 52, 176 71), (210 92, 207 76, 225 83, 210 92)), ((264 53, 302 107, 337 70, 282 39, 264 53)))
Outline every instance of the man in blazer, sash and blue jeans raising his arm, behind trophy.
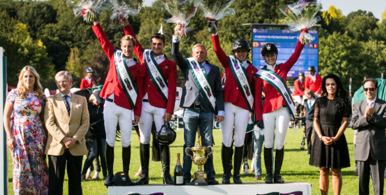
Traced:
MULTIPOLYGON (((176 25, 175 31, 180 29, 176 25)), ((182 89, 180 107, 184 108, 183 126, 184 141, 183 149, 195 146, 197 127, 200 127, 203 146, 213 145, 213 119, 215 107, 218 113, 216 121, 224 120, 224 99, 221 85, 220 69, 218 66, 206 60, 207 49, 203 44, 196 44, 192 48, 192 56, 185 59, 179 52, 179 40, 173 35, 171 44, 171 55, 185 78, 185 86, 182 89), (193 65, 194 64, 194 65, 193 65)), ((191 151, 190 155, 192 155, 191 151)), ((190 182, 192 160, 183 152, 183 179, 190 182)), ((208 176, 208 184, 218 184, 215 179, 213 167, 213 155, 210 155, 204 170, 208 176)))

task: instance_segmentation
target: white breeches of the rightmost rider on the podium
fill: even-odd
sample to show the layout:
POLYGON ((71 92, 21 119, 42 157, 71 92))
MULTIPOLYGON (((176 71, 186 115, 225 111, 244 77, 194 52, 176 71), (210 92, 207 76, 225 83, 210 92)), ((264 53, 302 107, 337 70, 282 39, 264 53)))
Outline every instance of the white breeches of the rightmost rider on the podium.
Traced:
POLYGON ((274 138, 276 138, 276 149, 282 149, 290 121, 290 113, 288 108, 281 107, 277 110, 263 114, 263 121, 264 147, 272 148, 274 138))

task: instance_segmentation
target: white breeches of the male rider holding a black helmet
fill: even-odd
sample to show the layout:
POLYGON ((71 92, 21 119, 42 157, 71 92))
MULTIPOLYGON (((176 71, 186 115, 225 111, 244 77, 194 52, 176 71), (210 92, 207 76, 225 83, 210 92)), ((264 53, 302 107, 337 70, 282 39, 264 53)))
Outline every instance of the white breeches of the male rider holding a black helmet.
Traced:
POLYGON ((149 144, 151 138, 151 125, 155 123, 157 131, 161 129, 164 120, 162 119, 165 114, 166 108, 159 108, 150 105, 149 102, 142 102, 141 118, 139 119, 139 136, 140 142, 143 144, 149 144))

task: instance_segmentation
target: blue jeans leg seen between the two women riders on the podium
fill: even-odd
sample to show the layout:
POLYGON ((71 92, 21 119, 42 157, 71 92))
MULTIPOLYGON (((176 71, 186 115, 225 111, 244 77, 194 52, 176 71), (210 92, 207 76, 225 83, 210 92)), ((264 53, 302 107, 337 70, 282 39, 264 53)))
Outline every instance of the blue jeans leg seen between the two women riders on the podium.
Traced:
MULTIPOLYGON (((255 127, 256 128, 256 127, 255 127)), ((263 129, 253 131, 253 150, 254 150, 254 168, 255 168, 255 176, 261 175, 261 151, 263 149, 264 142, 264 131, 263 129)))

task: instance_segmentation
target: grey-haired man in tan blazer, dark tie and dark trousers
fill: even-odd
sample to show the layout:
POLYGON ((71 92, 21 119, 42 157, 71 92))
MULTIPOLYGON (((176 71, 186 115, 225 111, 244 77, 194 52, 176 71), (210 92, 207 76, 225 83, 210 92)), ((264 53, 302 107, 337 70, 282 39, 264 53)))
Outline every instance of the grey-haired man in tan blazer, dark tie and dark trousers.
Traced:
POLYGON ((46 154, 49 159, 48 194, 63 194, 67 161, 68 194, 82 194, 81 168, 87 153, 84 136, 89 126, 85 97, 71 93, 72 76, 68 71, 55 75, 59 93, 47 98, 44 112, 49 132, 46 154))

